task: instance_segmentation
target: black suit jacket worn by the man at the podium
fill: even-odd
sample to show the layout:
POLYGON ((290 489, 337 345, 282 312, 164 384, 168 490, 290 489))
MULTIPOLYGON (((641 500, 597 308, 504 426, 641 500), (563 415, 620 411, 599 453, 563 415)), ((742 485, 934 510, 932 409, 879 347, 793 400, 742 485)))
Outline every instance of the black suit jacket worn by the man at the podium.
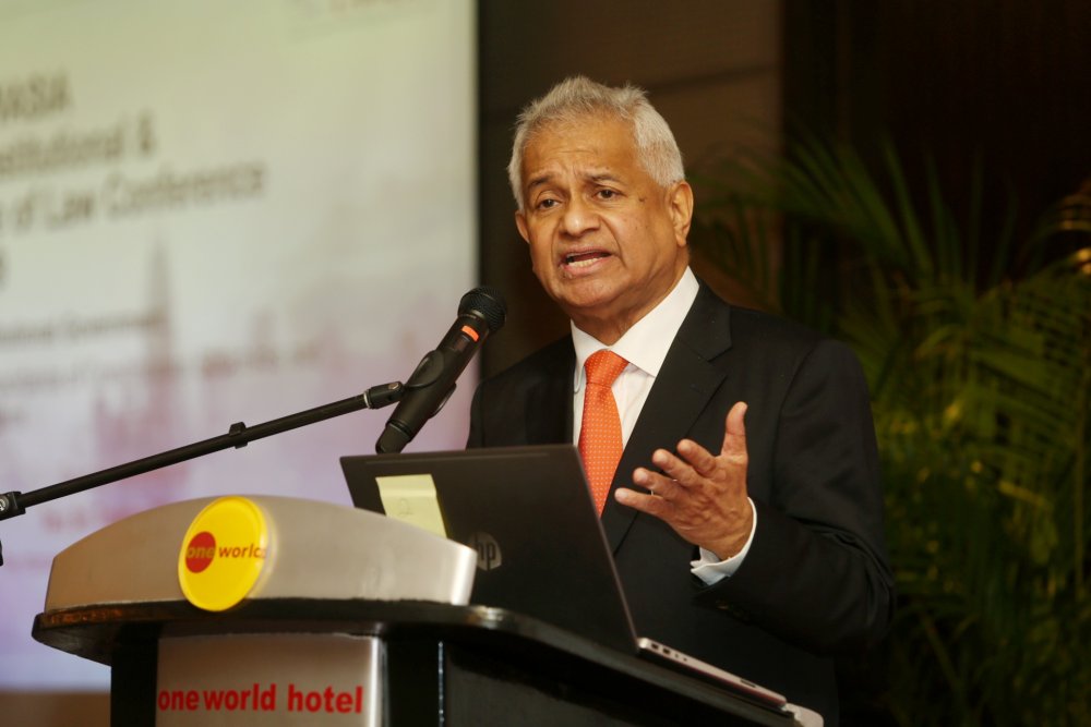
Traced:
MULTIPOLYGON (((482 383, 469 446, 572 441, 568 337, 482 383)), ((837 722, 830 656, 882 638, 894 585, 870 399, 847 347, 731 307, 702 284, 622 456, 613 487, 688 437, 712 452, 746 401, 757 511, 734 575, 706 586, 696 548, 611 496, 602 525, 637 632, 780 691, 837 722)))

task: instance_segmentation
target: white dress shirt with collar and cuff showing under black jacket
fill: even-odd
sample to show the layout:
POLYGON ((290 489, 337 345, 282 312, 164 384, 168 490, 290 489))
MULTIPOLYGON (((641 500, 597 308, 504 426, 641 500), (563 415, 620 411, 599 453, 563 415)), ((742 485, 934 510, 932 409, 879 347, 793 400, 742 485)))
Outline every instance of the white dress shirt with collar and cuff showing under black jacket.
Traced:
MULTIPOLYGON (((572 400, 573 411, 573 444, 579 443, 580 420, 584 412, 584 384, 587 375, 584 371, 584 362, 601 349, 609 349, 628 362, 621 375, 614 379, 612 391, 618 402, 618 413, 621 416, 622 444, 628 444, 628 437, 636 426, 636 420, 644 409, 644 403, 648 400, 651 386, 659 376, 667 352, 674 342, 674 337, 682 327, 682 322, 697 299, 699 286, 697 278, 690 268, 686 268, 681 280, 674 289, 668 293, 659 305, 648 312, 643 318, 633 325, 625 335, 618 339, 613 346, 606 346, 595 337, 576 328, 572 324, 572 342, 576 349, 576 372, 573 381, 575 396, 572 400)), ((663 443, 667 449, 673 448, 676 443, 663 443)), ((651 452, 648 452, 648 467, 651 467, 651 452)), ((754 504, 751 502, 751 509, 754 504)), ((751 529, 750 538, 746 545, 736 555, 720 560, 715 554, 700 548, 700 559, 691 562, 693 573, 711 585, 722 578, 727 578, 738 570, 742 565, 751 543, 754 541, 754 531, 757 529, 757 512, 754 512, 754 526, 751 529)))

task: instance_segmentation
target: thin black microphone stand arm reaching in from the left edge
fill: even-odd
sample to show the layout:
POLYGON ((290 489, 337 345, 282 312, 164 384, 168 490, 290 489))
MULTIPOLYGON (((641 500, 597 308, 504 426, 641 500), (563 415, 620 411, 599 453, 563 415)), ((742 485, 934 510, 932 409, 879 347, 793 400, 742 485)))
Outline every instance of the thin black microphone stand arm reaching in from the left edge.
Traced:
MULTIPOLYGON (((235 447, 236 449, 245 447, 254 439, 262 439, 274 434, 280 434, 281 432, 288 432, 289 429, 296 429, 308 424, 333 419, 334 416, 360 411, 361 409, 382 409, 401 399, 405 390, 406 387, 401 381, 373 386, 361 395, 322 407, 315 407, 314 409, 308 409, 298 414, 281 416, 280 419, 255 426, 248 427, 242 422, 236 422, 230 426, 227 434, 221 434, 218 437, 196 441, 192 445, 170 449, 158 455, 152 455, 151 457, 119 464, 100 472, 85 474, 74 480, 59 482, 56 485, 31 490, 25 495, 19 492, 4 493, 0 495, 0 520, 21 516, 26 512, 26 508, 28 507, 41 505, 43 502, 48 502, 60 497, 68 497, 69 495, 82 493, 85 489, 117 482, 118 480, 159 470, 171 464, 184 462, 185 460, 211 455, 212 452, 218 452, 228 447, 235 447)), ((0 543, 0 566, 2 565, 3 544, 0 543)))

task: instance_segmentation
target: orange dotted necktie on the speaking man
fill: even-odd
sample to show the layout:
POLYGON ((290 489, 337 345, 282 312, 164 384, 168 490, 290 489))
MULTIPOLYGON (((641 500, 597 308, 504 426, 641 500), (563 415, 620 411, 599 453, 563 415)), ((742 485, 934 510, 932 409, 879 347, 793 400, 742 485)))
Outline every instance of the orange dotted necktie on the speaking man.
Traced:
POLYGON ((579 425, 579 456, 591 486, 591 499, 599 514, 607 504, 610 483, 621 461, 621 416, 613 398, 614 379, 628 364, 613 351, 596 351, 584 364, 584 419, 579 425))

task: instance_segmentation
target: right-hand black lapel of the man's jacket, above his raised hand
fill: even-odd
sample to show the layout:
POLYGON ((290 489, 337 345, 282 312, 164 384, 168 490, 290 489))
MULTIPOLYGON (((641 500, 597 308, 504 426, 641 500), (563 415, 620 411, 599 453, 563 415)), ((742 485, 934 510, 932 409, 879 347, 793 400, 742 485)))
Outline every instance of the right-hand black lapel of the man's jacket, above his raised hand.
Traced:
POLYGON ((673 450, 723 383, 728 371, 718 359, 731 347, 727 303, 702 283, 630 435, 602 511, 602 528, 614 553, 637 512, 614 501, 613 490, 632 486, 633 470, 650 467, 652 451, 673 450))

